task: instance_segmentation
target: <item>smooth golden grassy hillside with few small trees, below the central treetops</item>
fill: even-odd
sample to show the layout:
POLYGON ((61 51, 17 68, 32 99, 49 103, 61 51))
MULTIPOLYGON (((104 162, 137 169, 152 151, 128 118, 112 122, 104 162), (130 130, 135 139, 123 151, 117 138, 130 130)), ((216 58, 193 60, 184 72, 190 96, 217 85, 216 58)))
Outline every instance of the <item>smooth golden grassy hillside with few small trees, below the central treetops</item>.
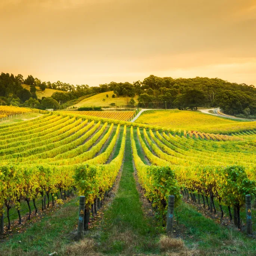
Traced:
MULTIPOLYGON (((120 96, 119 98, 112 98, 112 95, 114 94, 113 91, 110 92, 102 92, 99 94, 96 94, 94 96, 91 96, 89 98, 83 99, 82 101, 80 101, 79 103, 73 105, 74 107, 91 107, 91 106, 101 106, 101 107, 110 107, 111 103, 115 103, 117 104, 118 107, 121 106, 126 106, 127 105, 127 99, 131 99, 130 97, 122 97, 120 96), (106 95, 108 95, 108 98, 106 97, 106 95), (103 99, 105 99, 105 101, 103 101, 103 99)), ((137 99, 138 96, 135 96, 133 98, 136 103, 137 103, 137 99)))

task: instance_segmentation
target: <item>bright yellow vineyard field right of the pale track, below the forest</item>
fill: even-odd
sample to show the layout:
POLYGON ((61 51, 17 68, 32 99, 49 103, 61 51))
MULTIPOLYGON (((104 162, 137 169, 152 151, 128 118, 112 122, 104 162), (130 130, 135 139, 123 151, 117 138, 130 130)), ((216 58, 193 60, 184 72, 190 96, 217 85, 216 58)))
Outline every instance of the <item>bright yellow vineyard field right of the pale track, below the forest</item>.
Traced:
POLYGON ((141 114, 136 123, 145 123, 168 128, 186 130, 204 130, 207 127, 222 124, 239 123, 213 115, 182 110, 148 110, 141 114))

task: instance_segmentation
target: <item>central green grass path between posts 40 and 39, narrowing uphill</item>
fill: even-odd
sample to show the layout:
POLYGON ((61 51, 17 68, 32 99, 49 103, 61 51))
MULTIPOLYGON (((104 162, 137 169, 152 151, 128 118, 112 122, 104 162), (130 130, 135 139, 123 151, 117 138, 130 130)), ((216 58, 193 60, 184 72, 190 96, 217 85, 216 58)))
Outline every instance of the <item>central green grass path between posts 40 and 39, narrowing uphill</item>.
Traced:
POLYGON ((130 129, 127 129, 122 175, 117 194, 105 212, 98 243, 99 251, 109 255, 157 253, 158 228, 142 211, 133 176, 130 129), (153 225, 152 225, 153 224, 153 225))

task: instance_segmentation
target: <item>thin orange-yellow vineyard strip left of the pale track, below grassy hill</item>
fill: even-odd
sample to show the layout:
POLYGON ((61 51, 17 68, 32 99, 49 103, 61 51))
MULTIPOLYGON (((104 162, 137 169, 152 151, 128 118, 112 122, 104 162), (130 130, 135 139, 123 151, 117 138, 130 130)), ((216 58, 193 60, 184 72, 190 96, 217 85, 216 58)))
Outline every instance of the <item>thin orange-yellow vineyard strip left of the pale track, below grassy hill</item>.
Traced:
POLYGON ((128 121, 132 118, 134 111, 61 111, 61 113, 90 115, 94 117, 110 118, 115 120, 128 121))

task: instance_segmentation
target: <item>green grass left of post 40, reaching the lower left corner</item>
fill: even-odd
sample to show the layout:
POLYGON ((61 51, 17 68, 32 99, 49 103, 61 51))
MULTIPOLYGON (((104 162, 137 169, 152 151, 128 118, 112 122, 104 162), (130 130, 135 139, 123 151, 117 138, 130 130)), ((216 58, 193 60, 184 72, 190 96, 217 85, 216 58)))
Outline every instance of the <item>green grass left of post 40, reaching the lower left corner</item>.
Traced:
POLYGON ((77 223, 77 201, 77 197, 73 198, 41 221, 31 224, 26 232, 0 244, 0 255, 47 255, 61 251, 70 242, 71 231, 77 223))

